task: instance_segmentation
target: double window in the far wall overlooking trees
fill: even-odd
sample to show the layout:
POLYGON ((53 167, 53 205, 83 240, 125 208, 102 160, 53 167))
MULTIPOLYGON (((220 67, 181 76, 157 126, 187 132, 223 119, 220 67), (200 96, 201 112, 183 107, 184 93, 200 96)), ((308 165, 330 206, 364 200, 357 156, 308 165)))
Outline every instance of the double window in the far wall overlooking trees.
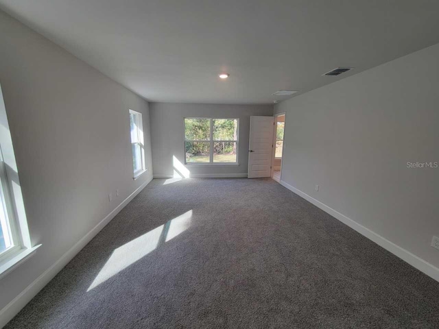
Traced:
POLYGON ((185 118, 185 161, 237 163, 238 136, 239 119, 185 118))

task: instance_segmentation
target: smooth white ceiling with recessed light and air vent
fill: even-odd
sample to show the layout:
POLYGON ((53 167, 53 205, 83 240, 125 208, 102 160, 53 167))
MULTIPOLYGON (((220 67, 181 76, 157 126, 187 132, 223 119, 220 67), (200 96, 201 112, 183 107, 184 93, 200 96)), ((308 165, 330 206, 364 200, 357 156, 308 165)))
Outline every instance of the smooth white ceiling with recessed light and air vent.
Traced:
POLYGON ((304 93, 439 42, 437 0, 0 0, 0 8, 150 101, 272 103, 282 99, 276 90, 304 93), (355 70, 321 76, 337 66, 355 70))

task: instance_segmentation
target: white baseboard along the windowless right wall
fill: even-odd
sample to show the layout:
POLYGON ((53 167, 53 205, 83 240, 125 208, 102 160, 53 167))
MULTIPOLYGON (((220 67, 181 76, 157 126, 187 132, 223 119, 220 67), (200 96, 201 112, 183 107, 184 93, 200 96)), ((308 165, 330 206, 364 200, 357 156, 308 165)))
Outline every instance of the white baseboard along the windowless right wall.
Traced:
POLYGON ((393 242, 389 241, 388 239, 383 238, 383 236, 373 232, 372 230, 369 230, 368 228, 362 226, 361 224, 357 223, 356 221, 353 221, 353 219, 350 219, 340 212, 337 212, 337 210, 334 210, 333 208, 327 206, 326 204, 323 204, 322 202, 318 201, 318 199, 314 199, 313 197, 307 195, 306 193, 303 193, 302 191, 298 190, 292 185, 289 185, 286 182, 281 181, 281 185, 288 188, 290 191, 296 193, 300 197, 304 198, 305 200, 311 202, 314 206, 317 206, 318 208, 322 209, 324 212, 327 212, 329 215, 335 217, 342 223, 345 223, 350 228, 353 228, 359 234, 366 236, 366 238, 372 240, 373 242, 377 243, 377 245, 380 245, 384 249, 388 250, 395 256, 401 258, 406 263, 409 263, 419 271, 427 274, 430 278, 433 278, 436 281, 439 281, 439 269, 438 267, 435 267, 434 265, 431 265, 427 261, 423 260, 422 258, 412 254, 411 252, 408 252, 403 247, 400 247, 399 245, 394 244, 393 242))

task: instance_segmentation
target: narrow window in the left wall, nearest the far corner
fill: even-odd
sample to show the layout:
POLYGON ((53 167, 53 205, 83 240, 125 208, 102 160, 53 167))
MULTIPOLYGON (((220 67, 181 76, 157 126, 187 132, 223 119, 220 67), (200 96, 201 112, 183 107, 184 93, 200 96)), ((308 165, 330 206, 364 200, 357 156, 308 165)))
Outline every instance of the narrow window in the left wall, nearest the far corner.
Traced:
POLYGON ((130 110, 130 132, 132 149, 132 170, 137 178, 146 170, 145 148, 143 147, 143 121, 142 114, 130 110))

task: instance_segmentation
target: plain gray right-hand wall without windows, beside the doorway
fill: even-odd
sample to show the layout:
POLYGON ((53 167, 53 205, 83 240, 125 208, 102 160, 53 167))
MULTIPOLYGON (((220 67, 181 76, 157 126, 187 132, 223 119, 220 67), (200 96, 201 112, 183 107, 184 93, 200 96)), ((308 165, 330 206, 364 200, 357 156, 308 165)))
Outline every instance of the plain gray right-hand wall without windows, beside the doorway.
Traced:
POLYGON ((407 162, 439 161, 438 67, 434 45, 275 106, 282 180, 436 267, 439 168, 407 162))

